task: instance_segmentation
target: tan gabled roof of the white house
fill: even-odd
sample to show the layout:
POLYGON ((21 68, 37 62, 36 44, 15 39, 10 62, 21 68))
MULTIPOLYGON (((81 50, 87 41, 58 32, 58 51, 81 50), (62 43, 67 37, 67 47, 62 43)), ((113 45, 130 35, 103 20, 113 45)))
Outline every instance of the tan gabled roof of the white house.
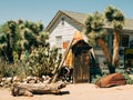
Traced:
MULTIPOLYGON (((61 10, 59 10, 58 13, 54 16, 54 18, 51 20, 51 22, 45 28, 45 31, 49 31, 51 29, 53 23, 58 20, 58 18, 61 14, 64 14, 64 16, 69 17, 70 19, 72 19, 73 21, 79 23, 81 27, 85 27, 84 22, 85 22, 85 19, 88 18, 88 16, 89 16, 88 13, 65 11, 65 10, 61 11, 61 10)), ((105 23, 104 28, 112 28, 112 26, 109 26, 108 23, 105 23)), ((124 24, 123 29, 133 30, 133 19, 126 18, 125 19, 125 24, 124 24)))

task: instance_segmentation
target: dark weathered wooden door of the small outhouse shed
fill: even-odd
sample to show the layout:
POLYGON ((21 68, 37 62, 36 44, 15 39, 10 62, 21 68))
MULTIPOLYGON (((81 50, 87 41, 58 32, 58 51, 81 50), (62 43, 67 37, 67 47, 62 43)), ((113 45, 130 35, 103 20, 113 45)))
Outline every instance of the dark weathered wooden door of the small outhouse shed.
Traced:
POLYGON ((82 52, 74 57, 73 82, 89 82, 89 52, 82 52))

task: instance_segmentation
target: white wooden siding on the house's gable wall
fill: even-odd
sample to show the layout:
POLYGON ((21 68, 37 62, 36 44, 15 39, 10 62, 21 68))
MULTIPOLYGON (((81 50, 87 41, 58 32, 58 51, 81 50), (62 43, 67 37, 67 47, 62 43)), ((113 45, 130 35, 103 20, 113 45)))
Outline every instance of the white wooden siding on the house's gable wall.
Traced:
POLYGON ((52 27, 52 31, 50 31, 50 44, 51 47, 55 46, 55 37, 62 36, 62 43, 63 41, 70 41, 73 38, 73 33, 80 30, 81 28, 70 18, 65 16, 61 16, 54 26, 52 27), (62 24, 62 18, 64 18, 64 23, 62 24))

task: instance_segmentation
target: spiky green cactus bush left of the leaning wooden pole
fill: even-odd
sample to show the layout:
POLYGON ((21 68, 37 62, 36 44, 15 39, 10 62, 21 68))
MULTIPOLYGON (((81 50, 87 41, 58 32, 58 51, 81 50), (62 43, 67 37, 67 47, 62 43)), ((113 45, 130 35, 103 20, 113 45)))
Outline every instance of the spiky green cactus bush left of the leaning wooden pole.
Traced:
POLYGON ((25 66, 31 76, 50 76, 59 64, 60 60, 61 54, 58 53, 57 48, 50 50, 49 46, 47 48, 39 47, 29 56, 25 66))

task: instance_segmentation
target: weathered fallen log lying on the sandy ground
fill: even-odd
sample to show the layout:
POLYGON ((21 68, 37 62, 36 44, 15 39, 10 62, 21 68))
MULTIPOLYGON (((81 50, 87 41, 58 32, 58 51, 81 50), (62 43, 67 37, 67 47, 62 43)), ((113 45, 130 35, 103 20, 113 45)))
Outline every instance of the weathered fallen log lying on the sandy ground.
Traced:
POLYGON ((61 93, 61 89, 65 87, 64 82, 57 83, 13 83, 11 87, 12 96, 28 96, 33 94, 58 94, 61 93))

